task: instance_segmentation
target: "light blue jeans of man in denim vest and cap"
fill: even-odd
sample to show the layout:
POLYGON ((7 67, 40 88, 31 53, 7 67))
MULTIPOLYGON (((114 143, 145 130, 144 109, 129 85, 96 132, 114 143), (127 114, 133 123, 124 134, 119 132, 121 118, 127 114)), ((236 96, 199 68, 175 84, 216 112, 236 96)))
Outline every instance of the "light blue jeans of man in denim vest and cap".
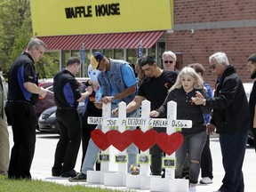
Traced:
MULTIPOLYGON (((111 109, 116 108, 116 105, 111 105, 111 109)), ((138 117, 139 110, 135 110, 130 114, 127 114, 127 117, 138 117)), ((98 124, 96 129, 101 130, 101 124, 98 124)), ((136 129, 136 126, 129 127, 130 130, 136 129)), ((139 153, 139 149, 132 143, 127 149, 128 154, 128 167, 132 164, 136 164, 136 156, 139 153)), ((82 166, 82 172, 87 174, 87 171, 93 171, 93 166, 97 161, 98 154, 100 152, 100 148, 98 148, 92 139, 89 140, 89 145, 86 151, 86 155, 84 157, 84 164, 82 166)))

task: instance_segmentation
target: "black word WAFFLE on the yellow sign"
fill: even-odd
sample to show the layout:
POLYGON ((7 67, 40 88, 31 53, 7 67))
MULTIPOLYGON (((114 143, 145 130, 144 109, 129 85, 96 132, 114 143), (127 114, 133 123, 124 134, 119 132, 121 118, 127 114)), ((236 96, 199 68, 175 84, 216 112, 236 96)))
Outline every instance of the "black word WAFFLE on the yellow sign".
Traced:
POLYGON ((76 6, 76 7, 67 7, 65 8, 66 18, 86 18, 92 17, 92 5, 89 6, 76 6), (85 9, 86 8, 86 9, 85 9))

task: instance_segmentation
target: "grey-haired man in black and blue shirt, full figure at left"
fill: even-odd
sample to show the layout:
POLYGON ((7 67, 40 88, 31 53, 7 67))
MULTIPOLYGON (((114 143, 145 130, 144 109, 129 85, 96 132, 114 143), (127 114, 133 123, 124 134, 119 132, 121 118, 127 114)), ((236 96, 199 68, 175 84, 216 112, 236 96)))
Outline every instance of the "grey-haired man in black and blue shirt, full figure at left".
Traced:
POLYGON ((9 179, 31 179, 30 167, 36 144, 34 105, 46 90, 38 86, 35 62, 45 52, 43 41, 32 38, 25 52, 13 62, 8 75, 7 121, 12 124, 14 145, 8 170, 9 179))

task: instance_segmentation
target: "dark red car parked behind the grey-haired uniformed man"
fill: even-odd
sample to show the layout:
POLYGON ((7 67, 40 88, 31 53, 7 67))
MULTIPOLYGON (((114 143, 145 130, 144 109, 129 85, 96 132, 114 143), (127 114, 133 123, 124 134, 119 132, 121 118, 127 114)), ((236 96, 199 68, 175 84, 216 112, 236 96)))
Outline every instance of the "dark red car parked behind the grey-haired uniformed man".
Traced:
MULTIPOLYGON (((76 80, 82 83, 85 83, 89 80, 88 77, 76 77, 76 80)), ((47 94, 44 98, 39 98, 38 102, 36 103, 35 110, 36 110, 36 116, 39 118, 39 116, 42 114, 42 112, 46 108, 51 108, 52 106, 55 106, 54 102, 54 93, 53 93, 53 78, 49 79, 40 79, 39 80, 39 86, 44 87, 44 89, 47 90, 47 94)), ((37 126, 38 129, 38 126, 37 126)))

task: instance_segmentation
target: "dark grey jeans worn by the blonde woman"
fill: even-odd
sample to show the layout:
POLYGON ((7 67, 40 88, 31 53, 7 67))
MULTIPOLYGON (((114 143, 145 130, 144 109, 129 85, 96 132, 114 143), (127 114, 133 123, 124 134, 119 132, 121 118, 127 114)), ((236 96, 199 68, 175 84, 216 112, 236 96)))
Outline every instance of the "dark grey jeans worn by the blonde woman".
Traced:
POLYGON ((183 144, 176 151, 175 177, 181 178, 183 164, 188 153, 189 182, 197 183, 200 172, 201 154, 206 140, 206 131, 198 132, 196 134, 183 135, 183 138, 183 144), (198 163, 194 163, 193 161, 197 161, 198 163))

